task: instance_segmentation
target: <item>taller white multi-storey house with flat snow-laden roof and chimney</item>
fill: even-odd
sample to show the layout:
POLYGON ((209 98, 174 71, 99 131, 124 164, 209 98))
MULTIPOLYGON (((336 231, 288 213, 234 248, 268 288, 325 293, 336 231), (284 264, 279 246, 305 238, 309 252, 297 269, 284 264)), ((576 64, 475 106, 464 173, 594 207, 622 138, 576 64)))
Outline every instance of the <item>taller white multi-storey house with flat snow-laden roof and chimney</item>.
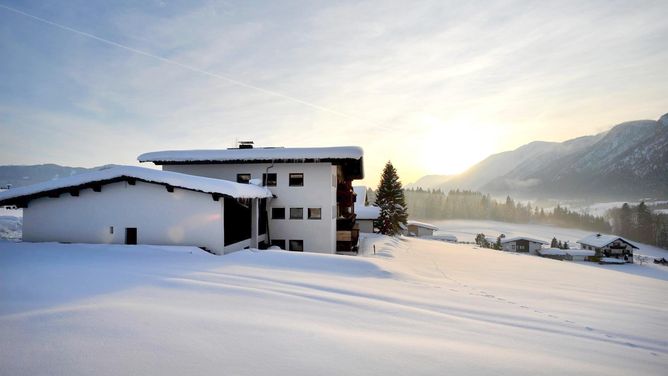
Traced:
POLYGON ((260 180, 274 198, 267 204, 267 245, 322 253, 355 250, 352 181, 362 179, 359 147, 256 148, 242 143, 224 150, 142 154, 165 171, 248 183, 260 180))

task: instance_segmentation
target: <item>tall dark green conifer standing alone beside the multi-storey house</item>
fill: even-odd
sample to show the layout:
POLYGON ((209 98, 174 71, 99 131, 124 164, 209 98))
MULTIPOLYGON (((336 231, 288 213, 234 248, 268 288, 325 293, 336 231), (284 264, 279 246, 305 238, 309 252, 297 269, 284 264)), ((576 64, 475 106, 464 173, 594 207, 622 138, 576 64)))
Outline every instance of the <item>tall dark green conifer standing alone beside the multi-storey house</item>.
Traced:
POLYGON ((406 226, 408 211, 399 175, 390 161, 385 164, 376 190, 376 205, 380 208, 380 215, 376 224, 380 233, 386 235, 399 234, 402 227, 406 226))

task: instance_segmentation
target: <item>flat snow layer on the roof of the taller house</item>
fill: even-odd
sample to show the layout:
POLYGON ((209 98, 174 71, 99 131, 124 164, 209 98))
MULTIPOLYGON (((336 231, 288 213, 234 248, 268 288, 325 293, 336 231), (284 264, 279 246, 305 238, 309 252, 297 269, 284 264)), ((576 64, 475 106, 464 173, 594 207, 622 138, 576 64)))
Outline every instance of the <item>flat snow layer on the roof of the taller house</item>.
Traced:
POLYGON ((252 148, 221 150, 166 150, 144 153, 139 162, 235 162, 235 161, 294 161, 360 159, 364 151, 359 146, 320 148, 252 148))

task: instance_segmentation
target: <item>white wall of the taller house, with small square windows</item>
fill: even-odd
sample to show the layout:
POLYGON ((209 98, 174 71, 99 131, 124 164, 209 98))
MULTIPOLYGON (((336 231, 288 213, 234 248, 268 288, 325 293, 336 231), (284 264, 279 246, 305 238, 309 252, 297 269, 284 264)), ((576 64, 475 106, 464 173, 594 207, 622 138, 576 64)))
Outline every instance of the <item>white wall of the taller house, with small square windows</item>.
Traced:
MULTIPOLYGON (((236 181, 237 174, 250 173, 262 179, 270 163, 164 165, 163 170, 236 181)), ((276 163, 277 185, 269 188, 277 198, 267 203, 271 239, 303 240, 304 251, 336 252, 336 166, 331 163, 276 163), (303 173, 304 186, 290 187, 290 173, 303 173), (271 208, 285 208, 286 219, 272 219, 271 208), (290 208, 303 208, 304 219, 290 219, 290 208), (320 208, 322 219, 308 219, 308 208, 320 208)))

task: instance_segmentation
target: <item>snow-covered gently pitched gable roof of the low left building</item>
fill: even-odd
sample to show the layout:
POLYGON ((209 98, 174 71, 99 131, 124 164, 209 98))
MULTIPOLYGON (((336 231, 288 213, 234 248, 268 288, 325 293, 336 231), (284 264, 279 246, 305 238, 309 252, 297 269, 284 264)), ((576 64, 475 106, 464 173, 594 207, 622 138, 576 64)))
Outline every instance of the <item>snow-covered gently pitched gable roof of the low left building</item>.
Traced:
POLYGON ((50 180, 42 183, 18 187, 0 192, 0 204, 10 204, 31 196, 41 197, 66 189, 85 188, 91 184, 108 184, 116 181, 135 179, 148 183, 158 183, 174 188, 188 189, 234 198, 272 197, 267 188, 251 184, 239 184, 227 180, 205 178, 178 172, 154 170, 136 166, 119 166, 50 180))

